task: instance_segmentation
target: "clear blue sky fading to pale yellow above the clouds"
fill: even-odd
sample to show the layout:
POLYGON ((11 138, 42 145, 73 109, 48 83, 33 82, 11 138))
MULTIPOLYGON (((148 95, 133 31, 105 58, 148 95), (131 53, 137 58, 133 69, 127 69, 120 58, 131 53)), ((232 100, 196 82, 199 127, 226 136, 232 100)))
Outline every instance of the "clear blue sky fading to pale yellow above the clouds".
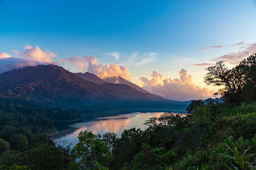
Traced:
MULTIPOLYGON (((103 65, 126 66, 138 85, 138 78, 151 79, 152 71, 177 78, 185 68, 195 84, 204 87, 206 67, 192 64, 214 63, 211 60, 255 43, 255 18, 252 0, 0 0, 0 51, 19 57, 12 50, 20 52, 30 44, 57 53, 54 62, 95 56, 103 65), (239 42, 244 46, 229 47, 239 42)), ((64 66, 78 71, 75 64, 64 66)))

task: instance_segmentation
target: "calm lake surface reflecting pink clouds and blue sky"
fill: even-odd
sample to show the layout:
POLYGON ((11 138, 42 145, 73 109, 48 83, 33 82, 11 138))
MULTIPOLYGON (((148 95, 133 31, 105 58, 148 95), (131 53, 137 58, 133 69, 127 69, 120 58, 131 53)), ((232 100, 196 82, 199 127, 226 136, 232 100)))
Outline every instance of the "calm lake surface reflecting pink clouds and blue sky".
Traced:
MULTIPOLYGON (((152 117, 160 117, 163 112, 153 113, 130 113, 124 115, 107 116, 101 118, 95 118, 90 120, 84 120, 80 123, 68 124, 65 130, 59 131, 51 137, 53 141, 56 140, 68 140, 75 146, 78 143, 78 134, 82 130, 92 131, 94 134, 103 134, 106 132, 115 132, 118 137, 125 129, 141 128, 144 130, 145 125, 143 123, 152 117)), ((72 148, 73 148, 72 146, 72 148)))

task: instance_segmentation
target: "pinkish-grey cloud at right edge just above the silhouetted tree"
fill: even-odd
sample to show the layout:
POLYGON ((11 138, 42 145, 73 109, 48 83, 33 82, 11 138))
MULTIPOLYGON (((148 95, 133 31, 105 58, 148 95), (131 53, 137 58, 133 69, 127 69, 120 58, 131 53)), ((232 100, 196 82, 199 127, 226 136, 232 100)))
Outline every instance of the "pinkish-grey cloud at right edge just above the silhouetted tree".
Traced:
POLYGON ((237 65, 241 60, 248 56, 248 54, 252 54, 256 52, 256 43, 247 44, 242 47, 242 50, 237 52, 228 53, 213 59, 214 62, 227 62, 229 64, 237 65))

